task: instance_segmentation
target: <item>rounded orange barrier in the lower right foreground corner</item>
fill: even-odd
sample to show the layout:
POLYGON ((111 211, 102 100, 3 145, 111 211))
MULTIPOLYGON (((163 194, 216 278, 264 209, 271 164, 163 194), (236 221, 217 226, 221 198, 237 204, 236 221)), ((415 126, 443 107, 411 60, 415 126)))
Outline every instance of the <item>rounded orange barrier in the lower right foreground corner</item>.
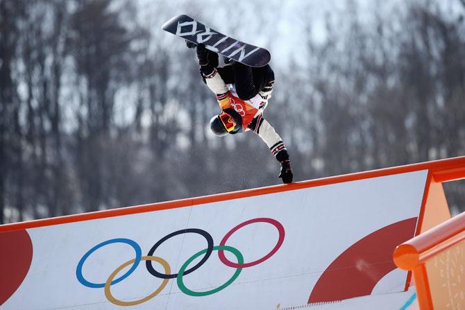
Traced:
POLYGON ((465 213, 398 246, 394 262, 413 270, 421 309, 464 309, 465 213))

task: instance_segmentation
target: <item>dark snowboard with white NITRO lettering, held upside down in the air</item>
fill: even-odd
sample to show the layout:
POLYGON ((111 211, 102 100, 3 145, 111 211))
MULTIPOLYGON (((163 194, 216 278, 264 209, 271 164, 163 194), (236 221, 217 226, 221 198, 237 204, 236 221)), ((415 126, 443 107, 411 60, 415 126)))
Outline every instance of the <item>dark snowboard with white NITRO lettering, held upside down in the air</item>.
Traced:
POLYGON ((267 49, 223 35, 187 15, 169 19, 163 24, 162 29, 194 44, 203 43, 210 51, 249 67, 263 67, 271 59, 267 49))

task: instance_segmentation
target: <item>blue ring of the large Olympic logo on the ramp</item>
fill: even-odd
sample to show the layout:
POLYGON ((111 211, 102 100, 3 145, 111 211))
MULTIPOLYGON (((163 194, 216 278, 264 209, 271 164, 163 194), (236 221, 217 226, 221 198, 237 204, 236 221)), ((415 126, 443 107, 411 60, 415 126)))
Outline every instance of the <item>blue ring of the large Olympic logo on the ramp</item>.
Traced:
POLYGON ((142 258, 142 250, 141 250, 140 246, 135 241, 130 240, 130 239, 122 239, 122 238, 110 239, 108 241, 104 241, 102 243, 99 243, 96 246, 94 246, 94 248, 88 250, 87 253, 85 253, 85 255, 79 261, 79 264, 76 267, 76 277, 78 278, 78 281, 81 282, 81 284, 83 284, 83 285, 85 285, 87 287, 92 287, 94 289, 105 287, 105 283, 92 283, 92 282, 89 282, 86 279, 84 279, 84 277, 83 277, 83 265, 84 265, 85 260, 93 252, 95 252, 99 248, 101 248, 103 246, 106 246, 107 244, 110 244, 110 243, 126 243, 129 246, 132 246, 134 248, 134 250, 135 250, 135 262, 134 262, 133 266, 124 275, 122 275, 121 277, 119 277, 117 279, 114 279, 111 282, 110 285, 117 284, 118 282, 123 281, 124 279, 126 279, 126 277, 128 277, 131 273, 134 272, 135 268, 137 268, 137 266, 139 265, 140 260, 142 258))

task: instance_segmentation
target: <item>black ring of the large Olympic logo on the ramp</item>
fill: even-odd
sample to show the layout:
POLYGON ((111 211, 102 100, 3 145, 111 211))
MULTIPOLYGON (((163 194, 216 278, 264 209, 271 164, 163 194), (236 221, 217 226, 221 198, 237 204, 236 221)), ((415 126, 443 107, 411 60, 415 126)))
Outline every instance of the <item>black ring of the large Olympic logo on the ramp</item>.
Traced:
MULTIPOLYGON (((213 238, 212 236, 208 233, 205 232, 205 230, 199 230, 198 228, 187 228, 185 230, 178 230, 177 232, 171 232, 171 234, 168 234, 167 236, 164 236, 160 241, 155 243, 153 247, 150 249, 149 254, 147 256, 153 256, 153 252, 162 244, 164 241, 167 241, 170 239, 172 236, 177 236, 178 234, 185 234, 187 232, 194 232, 196 234, 201 234, 205 239, 207 239, 208 242, 208 248, 207 252, 205 253, 205 256, 201 261, 196 264, 196 266, 190 268, 189 270, 185 270, 183 275, 188 275, 189 273, 192 273, 192 271, 195 271, 196 269, 200 268, 203 264, 205 264, 205 261, 207 261, 208 257, 212 254, 213 251, 213 238)), ((160 279, 174 279, 175 277, 178 277, 178 274, 173 274, 173 275, 165 275, 164 273, 159 273, 157 270, 155 270, 152 266, 152 261, 146 261, 145 266, 147 267, 147 270, 149 270, 149 273, 153 275, 154 277, 158 277, 160 279)))

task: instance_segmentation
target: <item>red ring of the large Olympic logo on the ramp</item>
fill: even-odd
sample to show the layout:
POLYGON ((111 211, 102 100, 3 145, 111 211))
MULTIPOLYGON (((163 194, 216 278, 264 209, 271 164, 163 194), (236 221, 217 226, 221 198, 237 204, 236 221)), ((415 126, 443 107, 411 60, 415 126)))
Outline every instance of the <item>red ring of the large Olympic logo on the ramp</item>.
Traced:
POLYGON ((244 263, 244 264, 238 264, 238 263, 233 263, 233 261, 228 261, 228 259, 224 255, 223 250, 218 250, 219 259, 221 260, 221 262, 223 264, 225 264, 226 266, 229 266, 229 267, 233 267, 233 268, 247 268, 247 267, 251 267, 251 266, 255 266, 257 264, 260 264, 263 261, 266 261, 267 259, 272 257, 274 253, 276 253, 276 251, 281 247, 282 242, 284 241, 285 232, 284 232, 284 227, 282 227, 281 223, 279 223, 276 220, 273 220, 273 218, 253 218, 251 220, 245 221, 244 223, 239 224, 236 227, 234 227, 232 230, 230 230, 226 234, 226 236, 223 237, 223 239, 221 240, 219 245, 220 246, 225 246, 226 241, 228 241, 229 237, 233 233, 235 233, 236 230, 239 230, 239 228, 244 227, 245 225, 248 225, 248 224, 251 224, 251 223, 260 223, 260 222, 270 223, 271 225, 276 227, 276 229, 278 229, 278 232, 279 232, 278 243, 276 243, 276 246, 273 248, 273 250, 271 250, 271 252, 269 252, 267 255, 265 255, 261 259, 257 259, 256 261, 251 261, 250 263, 244 263))

